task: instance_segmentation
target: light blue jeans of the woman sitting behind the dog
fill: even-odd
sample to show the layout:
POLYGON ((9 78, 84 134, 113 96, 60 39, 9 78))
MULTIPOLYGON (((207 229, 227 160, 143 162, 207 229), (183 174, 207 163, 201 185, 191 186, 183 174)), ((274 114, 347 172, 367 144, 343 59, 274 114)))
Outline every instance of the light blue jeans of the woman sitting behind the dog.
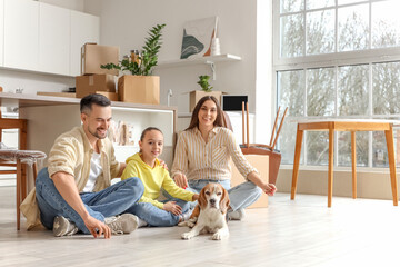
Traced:
MULTIPOLYGON (((256 202, 262 190, 258 186, 256 186, 252 181, 244 181, 233 188, 231 188, 230 180, 188 180, 189 187, 187 190, 200 194, 201 189, 209 182, 218 182, 221 184, 222 187, 228 191, 230 199, 231 211, 238 209, 244 209, 256 202)), ((192 207, 194 207, 197 202, 192 202, 192 207)))

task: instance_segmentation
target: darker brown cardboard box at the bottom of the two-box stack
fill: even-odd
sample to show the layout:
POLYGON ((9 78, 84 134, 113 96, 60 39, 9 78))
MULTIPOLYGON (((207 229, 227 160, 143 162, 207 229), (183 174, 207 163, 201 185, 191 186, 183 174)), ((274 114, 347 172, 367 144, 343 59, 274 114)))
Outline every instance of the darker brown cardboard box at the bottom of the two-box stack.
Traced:
POLYGON ((116 77, 112 75, 90 75, 76 77, 77 98, 98 91, 116 92, 116 77))

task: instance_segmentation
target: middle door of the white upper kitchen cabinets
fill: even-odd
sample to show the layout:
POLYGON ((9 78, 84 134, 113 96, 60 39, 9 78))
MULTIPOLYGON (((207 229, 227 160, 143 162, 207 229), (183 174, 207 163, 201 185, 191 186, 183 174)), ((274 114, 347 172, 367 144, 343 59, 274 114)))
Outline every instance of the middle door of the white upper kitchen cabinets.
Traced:
POLYGON ((70 10, 39 3, 39 71, 69 75, 70 10))

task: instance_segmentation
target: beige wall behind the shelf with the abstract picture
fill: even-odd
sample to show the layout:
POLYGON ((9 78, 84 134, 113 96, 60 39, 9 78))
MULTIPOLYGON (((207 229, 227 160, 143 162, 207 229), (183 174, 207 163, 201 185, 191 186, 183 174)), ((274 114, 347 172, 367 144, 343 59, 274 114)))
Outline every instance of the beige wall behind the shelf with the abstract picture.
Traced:
MULTIPOLYGON (((242 61, 217 65, 214 90, 231 95, 247 93, 251 111, 256 106, 256 0, 87 0, 86 11, 100 17, 101 43, 120 46, 121 56, 130 49, 141 49, 147 31, 166 23, 159 61, 180 58, 183 23, 189 20, 219 17, 218 36, 222 53, 242 57, 242 61), (100 8, 99 8, 100 7, 100 8)), ((210 75, 207 66, 160 68, 161 103, 167 105, 167 91, 173 90, 171 105, 179 112, 189 112, 189 96, 199 89, 198 76, 210 75)))

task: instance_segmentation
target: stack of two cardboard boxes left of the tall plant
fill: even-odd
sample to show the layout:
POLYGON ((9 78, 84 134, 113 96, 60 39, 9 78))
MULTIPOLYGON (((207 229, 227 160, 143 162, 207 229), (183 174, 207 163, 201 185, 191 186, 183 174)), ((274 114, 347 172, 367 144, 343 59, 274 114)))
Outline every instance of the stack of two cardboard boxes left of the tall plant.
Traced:
POLYGON ((101 65, 118 65, 119 47, 86 43, 82 47, 81 73, 76 78, 76 96, 82 98, 90 93, 101 93, 111 101, 118 101, 116 92, 116 69, 101 69, 101 65))

